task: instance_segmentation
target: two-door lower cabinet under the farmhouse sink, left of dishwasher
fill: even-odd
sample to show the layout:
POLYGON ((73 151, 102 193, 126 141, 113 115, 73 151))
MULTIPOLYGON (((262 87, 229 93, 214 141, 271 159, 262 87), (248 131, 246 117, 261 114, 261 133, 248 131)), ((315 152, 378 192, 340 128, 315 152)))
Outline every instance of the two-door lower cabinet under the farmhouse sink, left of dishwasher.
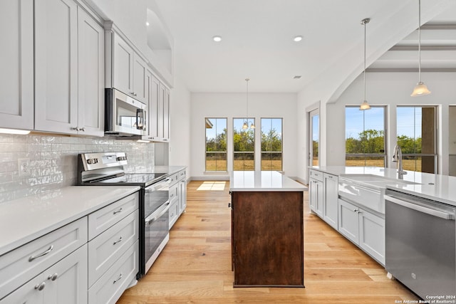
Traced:
POLYGON ((338 231, 384 266, 385 219, 342 199, 338 207, 338 231))

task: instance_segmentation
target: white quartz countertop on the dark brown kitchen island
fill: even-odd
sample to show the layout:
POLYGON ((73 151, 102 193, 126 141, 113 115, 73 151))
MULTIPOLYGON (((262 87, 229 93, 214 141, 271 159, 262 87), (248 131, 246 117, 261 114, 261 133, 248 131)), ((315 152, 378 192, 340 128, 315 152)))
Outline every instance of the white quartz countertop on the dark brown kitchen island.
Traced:
POLYGON ((304 191, 299 182, 276 171, 233 171, 229 176, 229 191, 304 191))

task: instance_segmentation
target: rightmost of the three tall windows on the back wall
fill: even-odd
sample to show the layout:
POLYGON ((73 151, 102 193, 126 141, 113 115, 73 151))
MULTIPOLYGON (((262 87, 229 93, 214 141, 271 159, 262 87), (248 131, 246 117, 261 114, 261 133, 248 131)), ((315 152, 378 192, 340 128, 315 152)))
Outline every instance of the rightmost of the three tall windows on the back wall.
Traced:
POLYGON ((281 118, 261 118, 261 170, 282 171, 281 118))

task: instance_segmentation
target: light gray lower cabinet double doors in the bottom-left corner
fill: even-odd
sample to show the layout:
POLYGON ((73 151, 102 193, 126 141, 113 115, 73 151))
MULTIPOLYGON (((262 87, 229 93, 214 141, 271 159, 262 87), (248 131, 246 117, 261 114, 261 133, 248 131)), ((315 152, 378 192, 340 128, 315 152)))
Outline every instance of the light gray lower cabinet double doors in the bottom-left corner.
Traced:
POLYGON ((87 303, 87 245, 63 258, 0 303, 87 303))

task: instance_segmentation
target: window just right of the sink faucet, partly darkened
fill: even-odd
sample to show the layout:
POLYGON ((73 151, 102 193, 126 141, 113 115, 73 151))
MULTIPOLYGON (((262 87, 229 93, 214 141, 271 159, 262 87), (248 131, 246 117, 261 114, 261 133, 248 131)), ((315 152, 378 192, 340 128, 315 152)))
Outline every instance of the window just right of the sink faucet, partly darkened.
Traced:
POLYGON ((403 169, 437 173, 437 109, 400 106, 397 119, 403 169))

